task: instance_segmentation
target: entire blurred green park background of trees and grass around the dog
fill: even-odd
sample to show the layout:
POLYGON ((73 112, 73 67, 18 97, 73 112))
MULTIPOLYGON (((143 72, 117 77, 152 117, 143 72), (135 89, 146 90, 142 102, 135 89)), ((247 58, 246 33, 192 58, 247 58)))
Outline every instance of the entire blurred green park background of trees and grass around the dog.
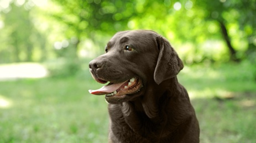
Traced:
POLYGON ((134 29, 184 61, 201 142, 256 142, 255 0, 0 0, 0 142, 107 142, 88 62, 134 29))

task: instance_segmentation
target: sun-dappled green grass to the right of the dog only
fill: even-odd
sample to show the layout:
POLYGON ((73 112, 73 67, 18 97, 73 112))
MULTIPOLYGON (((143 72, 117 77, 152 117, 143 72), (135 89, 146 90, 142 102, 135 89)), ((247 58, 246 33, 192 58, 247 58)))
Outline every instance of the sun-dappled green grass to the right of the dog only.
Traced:
POLYGON ((201 142, 256 142, 255 68, 247 63, 192 66, 179 74, 201 128, 201 142))

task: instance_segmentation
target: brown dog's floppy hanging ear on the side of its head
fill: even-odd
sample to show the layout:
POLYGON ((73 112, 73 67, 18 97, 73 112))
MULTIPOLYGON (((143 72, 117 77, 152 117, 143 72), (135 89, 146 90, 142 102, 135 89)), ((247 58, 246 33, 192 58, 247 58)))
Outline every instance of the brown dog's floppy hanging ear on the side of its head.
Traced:
POLYGON ((174 48, 162 36, 156 37, 158 43, 159 55, 156 63, 154 80, 156 84, 162 83, 166 79, 176 76, 184 65, 174 48))

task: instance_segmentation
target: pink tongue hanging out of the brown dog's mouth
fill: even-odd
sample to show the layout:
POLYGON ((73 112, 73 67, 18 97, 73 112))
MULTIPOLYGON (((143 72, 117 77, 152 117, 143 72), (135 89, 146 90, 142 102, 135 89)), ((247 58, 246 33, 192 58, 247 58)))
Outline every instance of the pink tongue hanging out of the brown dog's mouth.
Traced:
POLYGON ((112 93, 112 92, 116 91, 117 89, 119 89, 119 87, 121 87, 126 82, 127 81, 124 81, 123 83, 105 85, 98 90, 89 90, 89 92, 90 92, 90 94, 93 94, 93 95, 109 94, 109 93, 112 93))

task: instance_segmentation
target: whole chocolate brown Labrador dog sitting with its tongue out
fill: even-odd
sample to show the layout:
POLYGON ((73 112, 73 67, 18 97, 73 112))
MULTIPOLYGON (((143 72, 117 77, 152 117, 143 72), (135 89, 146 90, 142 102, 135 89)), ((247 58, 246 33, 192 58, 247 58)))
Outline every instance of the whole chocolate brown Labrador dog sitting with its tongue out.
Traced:
POLYGON ((176 75, 183 63, 154 31, 117 32, 106 53, 90 64, 106 95, 109 142, 199 142, 199 126, 186 89, 176 75))

